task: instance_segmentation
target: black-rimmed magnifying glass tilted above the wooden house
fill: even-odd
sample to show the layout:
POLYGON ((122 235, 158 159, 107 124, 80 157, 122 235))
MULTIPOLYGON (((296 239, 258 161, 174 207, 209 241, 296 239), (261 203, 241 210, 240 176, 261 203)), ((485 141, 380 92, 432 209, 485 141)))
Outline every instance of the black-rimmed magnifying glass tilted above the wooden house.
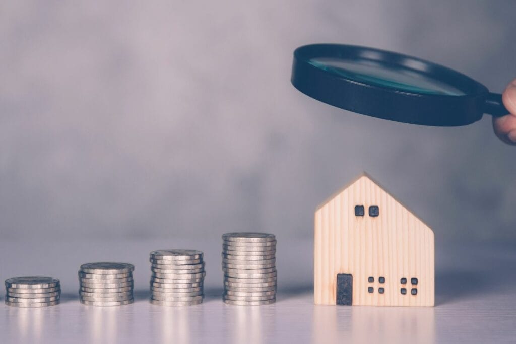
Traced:
POLYGON ((294 51, 292 84, 335 107, 386 120, 433 126, 508 114, 502 95, 472 78, 416 57, 374 48, 311 44, 294 51))

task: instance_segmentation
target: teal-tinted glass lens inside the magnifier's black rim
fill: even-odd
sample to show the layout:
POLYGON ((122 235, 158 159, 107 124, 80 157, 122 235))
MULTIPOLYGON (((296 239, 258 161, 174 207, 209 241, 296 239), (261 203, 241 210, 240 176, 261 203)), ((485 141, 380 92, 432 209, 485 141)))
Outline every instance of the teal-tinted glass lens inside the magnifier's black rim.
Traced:
POLYGON ((461 90, 434 79, 424 72, 370 59, 317 57, 309 59, 315 67, 366 85, 421 94, 464 95, 461 90))

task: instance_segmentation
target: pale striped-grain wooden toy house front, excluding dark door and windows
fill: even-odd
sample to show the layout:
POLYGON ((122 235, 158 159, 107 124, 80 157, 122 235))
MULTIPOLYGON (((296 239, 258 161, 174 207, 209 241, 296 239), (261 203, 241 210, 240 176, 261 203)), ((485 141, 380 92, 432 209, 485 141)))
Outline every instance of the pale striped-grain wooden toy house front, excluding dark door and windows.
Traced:
POLYGON ((314 245, 315 304, 336 304, 336 276, 347 273, 353 275, 353 305, 433 306, 433 232, 368 175, 317 208, 314 245), (365 207, 363 217, 354 215, 356 205, 365 207), (372 205, 379 206, 378 217, 368 215, 372 205), (417 285, 411 284, 412 277, 417 285))

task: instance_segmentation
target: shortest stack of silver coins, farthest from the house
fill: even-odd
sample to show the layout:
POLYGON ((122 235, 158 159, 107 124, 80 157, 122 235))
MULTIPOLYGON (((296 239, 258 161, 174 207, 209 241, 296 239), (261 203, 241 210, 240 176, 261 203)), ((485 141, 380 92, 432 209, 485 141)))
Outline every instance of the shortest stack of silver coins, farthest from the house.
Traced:
POLYGON ((59 303, 58 279, 44 276, 12 277, 5 280, 5 304, 15 307, 46 307, 59 303))

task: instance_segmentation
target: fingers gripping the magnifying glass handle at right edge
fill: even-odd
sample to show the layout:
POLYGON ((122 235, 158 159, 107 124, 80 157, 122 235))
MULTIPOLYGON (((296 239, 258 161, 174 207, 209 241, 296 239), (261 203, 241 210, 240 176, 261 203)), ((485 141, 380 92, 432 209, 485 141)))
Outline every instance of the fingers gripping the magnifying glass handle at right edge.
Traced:
POLYGON ((516 145, 516 79, 505 89, 502 101, 510 113, 504 117, 493 117, 494 133, 505 143, 516 145))

